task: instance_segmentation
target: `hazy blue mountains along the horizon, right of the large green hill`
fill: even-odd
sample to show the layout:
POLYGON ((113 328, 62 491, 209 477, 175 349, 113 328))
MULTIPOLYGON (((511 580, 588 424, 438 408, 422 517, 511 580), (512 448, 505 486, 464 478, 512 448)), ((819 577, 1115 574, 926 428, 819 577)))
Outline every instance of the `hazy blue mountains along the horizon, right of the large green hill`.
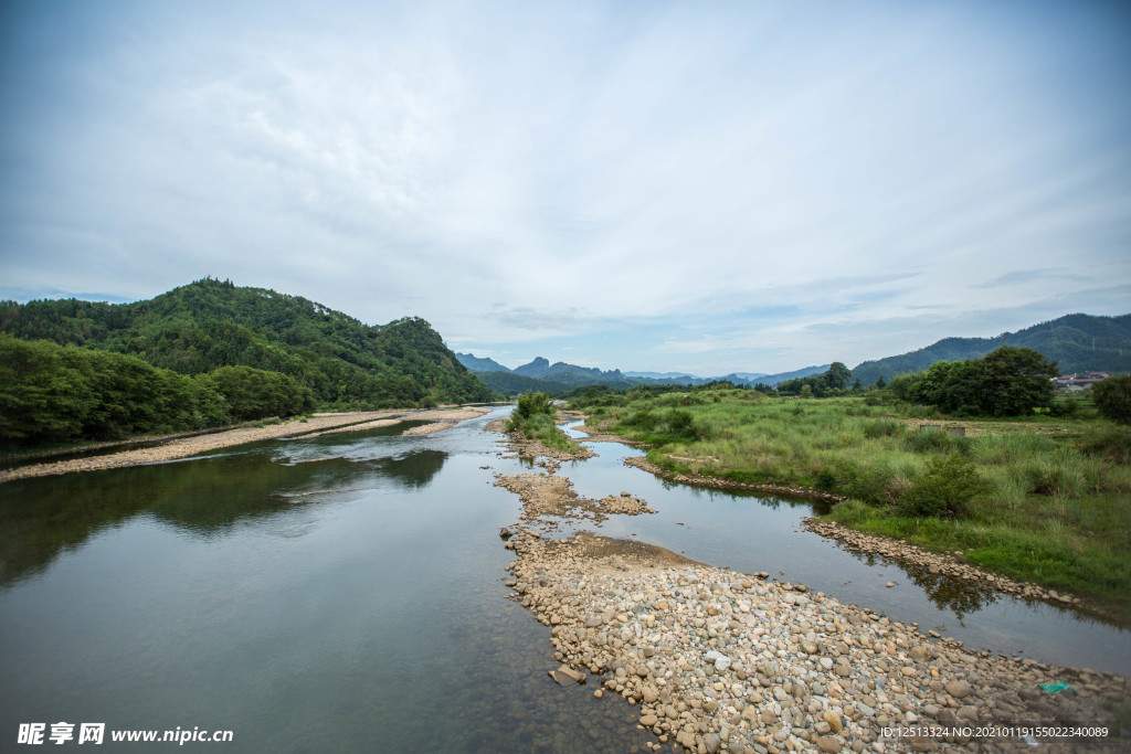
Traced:
MULTIPOLYGON (((861 384, 874 384, 883 376, 925 370, 940 361, 981 358, 999 346, 1018 346, 1039 350, 1056 361, 1061 373, 1105 371, 1131 372, 1131 314, 1120 317, 1091 317, 1068 314, 1050 322, 1042 322, 1017 332, 1004 332, 994 338, 944 338, 934 345, 898 356, 863 362, 854 369, 853 378, 861 384)), ((715 380, 734 384, 762 383, 777 385, 786 380, 822 374, 829 364, 806 366, 793 372, 765 374, 761 372, 731 372, 720 376, 698 376, 684 372, 621 372, 556 362, 537 357, 529 364, 513 370, 491 358, 472 354, 456 354, 456 358, 490 388, 501 392, 524 390, 564 391, 579 385, 604 384, 610 388, 629 388, 638 384, 705 384, 715 380)))

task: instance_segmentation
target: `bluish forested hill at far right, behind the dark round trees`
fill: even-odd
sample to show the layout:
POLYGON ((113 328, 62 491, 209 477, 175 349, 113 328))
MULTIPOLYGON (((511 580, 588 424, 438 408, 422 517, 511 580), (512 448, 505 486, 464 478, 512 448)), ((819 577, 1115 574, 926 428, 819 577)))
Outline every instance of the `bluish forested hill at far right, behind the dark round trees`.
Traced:
POLYGON ((867 385, 880 376, 890 380, 897 374, 925 370, 935 362, 981 358, 999 346, 1041 352, 1046 358, 1057 362, 1061 374, 1131 372, 1131 314, 1068 314, 995 338, 946 338, 909 354, 864 362, 852 373, 867 385))

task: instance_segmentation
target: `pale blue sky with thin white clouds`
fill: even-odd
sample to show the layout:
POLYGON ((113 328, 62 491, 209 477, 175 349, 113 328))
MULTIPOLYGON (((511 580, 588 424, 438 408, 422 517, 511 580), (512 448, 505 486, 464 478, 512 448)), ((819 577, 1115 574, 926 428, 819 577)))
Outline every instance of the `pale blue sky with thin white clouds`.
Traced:
POLYGON ((0 3, 0 298, 700 375, 1131 312, 1131 3, 0 3))

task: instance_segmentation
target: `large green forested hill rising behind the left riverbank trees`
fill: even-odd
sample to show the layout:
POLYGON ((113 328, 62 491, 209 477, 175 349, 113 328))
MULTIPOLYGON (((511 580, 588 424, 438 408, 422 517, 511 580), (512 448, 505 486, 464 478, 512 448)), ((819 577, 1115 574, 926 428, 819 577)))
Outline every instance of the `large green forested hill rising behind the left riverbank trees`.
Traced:
POLYGON ((322 407, 492 398, 422 319, 368 326, 301 296, 210 278, 131 304, 5 302, 0 331, 131 354, 182 374, 221 366, 279 372, 309 387, 322 407))

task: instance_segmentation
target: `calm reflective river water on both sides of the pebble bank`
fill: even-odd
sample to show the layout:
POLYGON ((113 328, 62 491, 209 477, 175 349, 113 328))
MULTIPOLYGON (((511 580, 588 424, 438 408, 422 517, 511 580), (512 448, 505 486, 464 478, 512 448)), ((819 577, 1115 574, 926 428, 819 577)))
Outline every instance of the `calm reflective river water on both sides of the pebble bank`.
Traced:
MULTIPOLYGON (((0 486, 0 749, 68 721, 234 731, 189 751, 644 751, 625 702, 546 676, 549 629, 507 599, 518 500, 491 483, 523 466, 482 428, 507 410, 0 486)), ((595 448, 562 469, 581 494, 659 511, 605 534, 1131 671, 1126 632, 870 564, 804 531, 809 504, 666 485, 595 448)))

